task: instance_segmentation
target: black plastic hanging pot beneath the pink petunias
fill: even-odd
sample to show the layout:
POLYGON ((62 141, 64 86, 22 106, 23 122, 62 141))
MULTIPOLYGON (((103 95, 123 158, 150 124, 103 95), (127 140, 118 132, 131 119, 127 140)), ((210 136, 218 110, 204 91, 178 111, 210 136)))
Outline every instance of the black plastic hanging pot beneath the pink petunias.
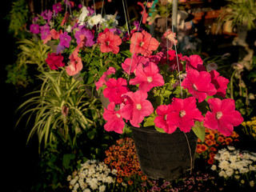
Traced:
POLYGON ((154 126, 131 127, 131 130, 139 165, 149 178, 170 181, 193 168, 198 138, 192 130, 186 135, 179 129, 173 134, 160 133, 154 126))

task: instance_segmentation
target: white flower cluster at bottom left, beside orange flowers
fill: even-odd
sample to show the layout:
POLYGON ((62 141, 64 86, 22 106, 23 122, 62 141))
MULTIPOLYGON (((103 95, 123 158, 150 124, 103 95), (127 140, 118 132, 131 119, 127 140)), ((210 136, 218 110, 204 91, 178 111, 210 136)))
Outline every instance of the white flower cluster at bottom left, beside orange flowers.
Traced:
POLYGON ((117 170, 110 170, 104 162, 87 160, 81 164, 78 171, 67 177, 72 192, 84 191, 109 191, 111 184, 115 182, 117 170))

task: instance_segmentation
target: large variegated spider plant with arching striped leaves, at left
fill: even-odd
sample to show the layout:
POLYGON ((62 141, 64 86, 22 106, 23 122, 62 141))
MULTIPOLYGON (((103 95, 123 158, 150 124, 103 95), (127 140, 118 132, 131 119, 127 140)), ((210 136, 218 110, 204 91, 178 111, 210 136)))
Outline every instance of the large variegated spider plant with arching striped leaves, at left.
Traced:
POLYGON ((34 119, 28 141, 38 134, 40 149, 41 145, 55 141, 53 130, 57 130, 62 139, 75 146, 78 134, 89 131, 98 121, 98 100, 88 98, 82 82, 70 77, 64 69, 42 71, 39 78, 42 79, 40 90, 27 94, 30 98, 18 108, 23 110, 21 118, 28 114, 27 122, 31 117, 34 119))

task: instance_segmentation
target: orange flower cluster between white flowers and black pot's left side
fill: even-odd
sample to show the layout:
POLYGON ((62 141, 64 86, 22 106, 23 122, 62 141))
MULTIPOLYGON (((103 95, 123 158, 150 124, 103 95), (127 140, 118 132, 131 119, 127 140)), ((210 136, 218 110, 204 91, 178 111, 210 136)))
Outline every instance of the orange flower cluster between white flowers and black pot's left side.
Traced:
POLYGON ((145 181, 146 175, 142 173, 138 164, 138 156, 132 138, 118 139, 116 145, 105 151, 104 162, 111 170, 117 170, 117 182, 122 185, 134 185, 135 182, 145 181))

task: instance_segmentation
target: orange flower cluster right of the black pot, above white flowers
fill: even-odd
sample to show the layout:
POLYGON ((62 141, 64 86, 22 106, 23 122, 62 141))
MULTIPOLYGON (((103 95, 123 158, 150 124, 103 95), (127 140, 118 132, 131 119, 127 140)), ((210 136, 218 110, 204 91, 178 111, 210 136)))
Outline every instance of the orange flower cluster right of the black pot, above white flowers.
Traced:
POLYGON ((198 138, 198 146, 196 149, 197 157, 206 159, 207 163, 212 165, 214 163, 214 156, 218 152, 219 146, 232 146, 234 142, 238 142, 239 135, 233 131, 229 137, 218 133, 217 130, 210 130, 206 128, 206 139, 202 142, 198 138))

